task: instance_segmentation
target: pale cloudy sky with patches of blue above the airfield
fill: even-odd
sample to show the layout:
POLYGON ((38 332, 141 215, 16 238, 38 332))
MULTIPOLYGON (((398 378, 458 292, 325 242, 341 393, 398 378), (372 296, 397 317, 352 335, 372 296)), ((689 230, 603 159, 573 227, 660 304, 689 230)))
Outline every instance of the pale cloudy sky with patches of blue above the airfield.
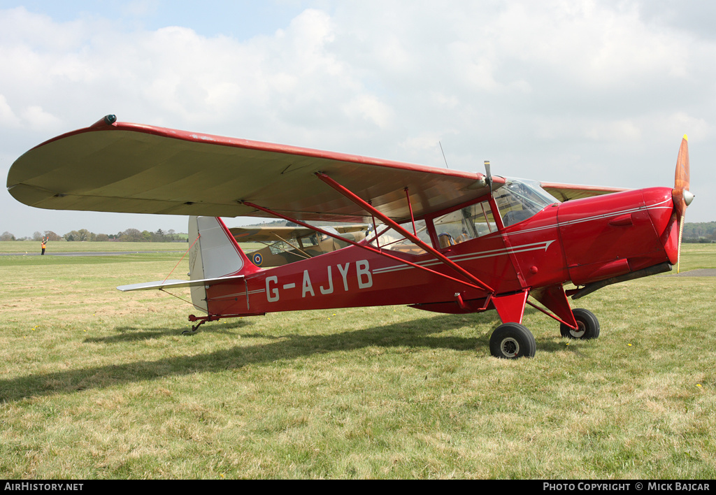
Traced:
MULTIPOLYGON (((686 134, 687 221, 715 221, 714 21, 707 0, 0 0, 0 173, 107 114, 626 188, 672 186, 686 134)), ((0 211, 16 237, 187 230, 183 216, 32 208, 5 188, 0 211)))

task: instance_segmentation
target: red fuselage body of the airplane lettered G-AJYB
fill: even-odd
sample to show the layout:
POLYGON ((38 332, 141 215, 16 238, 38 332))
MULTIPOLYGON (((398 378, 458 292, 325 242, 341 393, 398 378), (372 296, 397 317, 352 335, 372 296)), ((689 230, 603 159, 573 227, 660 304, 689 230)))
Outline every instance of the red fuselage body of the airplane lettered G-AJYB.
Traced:
MULTIPOLYGON (((568 282, 587 286, 652 266, 675 264, 678 239, 671 221, 671 195, 670 188, 650 188, 555 202, 517 224, 437 247, 495 288, 497 294, 508 294, 502 297, 521 297, 526 291, 541 288, 553 288, 558 294, 557 288, 568 282)), ((430 220, 427 233, 437 234, 430 220)), ((457 277, 430 254, 410 254, 402 246, 382 249, 457 277)), ((389 304, 461 313, 494 307, 484 289, 467 287, 359 246, 274 269, 246 270, 245 282, 207 289, 212 313, 240 315, 389 304)), ((547 306, 555 306, 546 300, 547 306)), ((559 304, 551 310, 563 313, 559 304)), ((521 322, 522 311, 523 306, 517 304, 514 309, 504 309, 500 317, 521 322)), ((568 314, 562 316, 569 319, 568 314)))

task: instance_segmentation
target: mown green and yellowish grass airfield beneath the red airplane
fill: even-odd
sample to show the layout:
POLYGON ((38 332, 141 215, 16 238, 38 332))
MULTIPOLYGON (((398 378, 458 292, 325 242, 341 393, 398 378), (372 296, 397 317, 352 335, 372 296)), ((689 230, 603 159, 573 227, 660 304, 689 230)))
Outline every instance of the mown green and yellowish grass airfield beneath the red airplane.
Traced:
MULTIPOLYGON (((716 245, 683 249, 682 271, 716 267, 716 245)), ((277 313, 183 336, 188 304, 114 289, 180 256, 0 256, 0 479, 716 477, 716 278, 595 292, 586 342, 528 309, 536 357, 498 360, 494 312, 277 313)))

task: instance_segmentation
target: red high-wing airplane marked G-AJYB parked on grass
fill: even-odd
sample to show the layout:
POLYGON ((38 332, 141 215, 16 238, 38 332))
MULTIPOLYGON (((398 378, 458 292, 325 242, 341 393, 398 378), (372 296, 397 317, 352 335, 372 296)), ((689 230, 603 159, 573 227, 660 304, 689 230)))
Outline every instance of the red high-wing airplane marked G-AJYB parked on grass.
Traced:
MULTIPOLYGON (((673 188, 539 183, 117 122, 107 115, 22 155, 9 192, 39 208, 190 216, 190 280, 204 322, 268 312, 408 304, 442 313, 496 309, 495 357, 532 357, 526 304, 561 335, 599 336, 571 309, 596 289, 679 262, 689 189, 687 138, 673 188), (560 200, 564 202, 558 201, 560 200), (569 200, 569 201, 567 201, 569 200), (351 246, 273 269, 255 266, 219 216, 366 223, 351 246), (574 284, 565 290, 564 285, 574 284), (528 299, 531 297, 531 299, 528 299), (533 300, 532 300, 533 299, 533 300)), ((339 240, 344 240, 340 238, 339 240)), ((677 265, 678 266, 678 265, 677 265)))

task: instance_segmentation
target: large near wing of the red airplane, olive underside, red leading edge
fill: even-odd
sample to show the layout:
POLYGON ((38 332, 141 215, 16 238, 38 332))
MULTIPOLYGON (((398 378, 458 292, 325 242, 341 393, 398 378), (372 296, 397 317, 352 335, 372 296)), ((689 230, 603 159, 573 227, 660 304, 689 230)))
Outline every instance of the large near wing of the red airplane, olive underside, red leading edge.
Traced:
MULTIPOLYGON (((400 163, 116 122, 51 139, 11 166, 7 187, 21 203, 57 210, 200 216, 269 216, 368 223, 355 203, 326 186, 321 172, 395 221, 483 195, 481 173, 400 163)), ((495 183, 503 183, 500 177, 495 183)))

